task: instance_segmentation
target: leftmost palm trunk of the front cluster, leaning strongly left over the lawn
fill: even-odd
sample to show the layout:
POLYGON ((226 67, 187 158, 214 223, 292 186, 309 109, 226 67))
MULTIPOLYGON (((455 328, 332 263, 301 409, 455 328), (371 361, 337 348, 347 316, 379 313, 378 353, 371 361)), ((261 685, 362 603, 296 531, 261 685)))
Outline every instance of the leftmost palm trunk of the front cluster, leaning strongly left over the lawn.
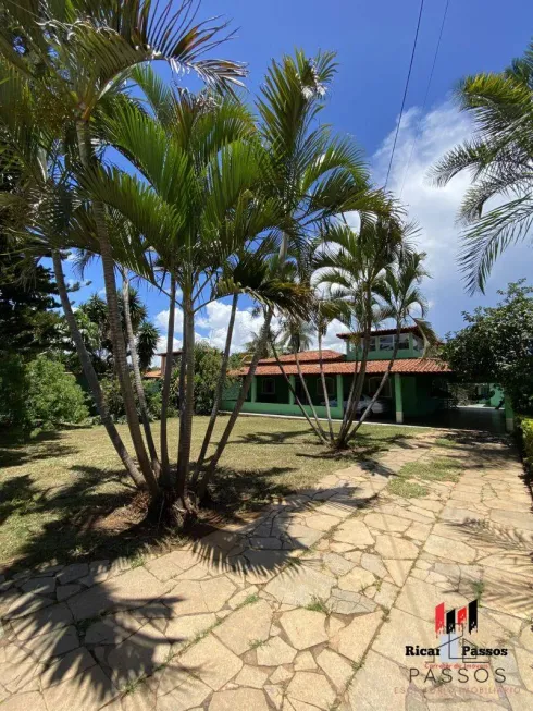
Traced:
POLYGON ((58 284, 58 292, 61 301, 61 306, 63 307, 63 312, 65 316, 66 323, 69 326, 69 330, 71 332, 71 338, 74 341, 76 353, 79 358, 79 363, 82 364, 82 368, 85 378, 87 379, 87 384, 89 385, 89 390, 95 401, 98 414, 100 415, 102 425, 106 428, 106 431, 108 432, 109 439, 111 440, 116 451, 116 454, 121 457, 121 461, 124 464, 126 471, 134 480, 135 486, 138 487, 139 489, 142 489, 146 487, 145 479, 142 478, 140 471, 137 469, 135 462, 129 456, 124 445, 124 442, 122 441, 122 438, 119 434, 116 427, 114 426, 113 419, 111 418, 108 408, 106 406, 106 402, 103 400, 103 393, 100 388, 98 377, 96 375, 95 368, 92 367, 92 363, 90 361, 90 357, 89 354, 87 353, 87 348, 85 347, 85 343, 79 332, 76 318, 74 316, 74 311, 72 310, 72 305, 69 299, 69 292, 66 291, 65 278, 63 274, 63 266, 61 263, 61 255, 59 254, 59 252, 57 250, 52 252, 52 261, 53 261, 53 273, 55 275, 55 283, 58 284))

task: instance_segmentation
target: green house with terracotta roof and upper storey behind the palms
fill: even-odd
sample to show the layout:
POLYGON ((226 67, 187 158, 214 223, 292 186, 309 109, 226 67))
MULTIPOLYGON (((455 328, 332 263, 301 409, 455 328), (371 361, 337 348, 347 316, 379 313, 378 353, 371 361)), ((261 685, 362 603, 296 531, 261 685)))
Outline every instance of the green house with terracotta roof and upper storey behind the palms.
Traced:
MULTIPOLYGON (((343 418, 344 406, 348 400, 355 372, 360 363, 355 334, 339 333, 339 345, 344 341, 345 353, 322 351, 322 363, 332 417, 343 418)), ((363 393, 372 396, 379 388, 388 367, 395 346, 396 329, 373 331, 370 341, 370 354, 367 363, 363 393)), ((424 358, 423 340, 418 327, 401 329, 396 359, 391 376, 380 394, 380 417, 396 422, 418 420, 427 417, 447 406, 449 394, 447 382, 451 377, 448 366, 435 358, 424 358)), ((298 364, 294 355, 281 356, 283 370, 288 377, 300 402, 307 402, 298 364)), ((326 416, 325 397, 320 377, 320 358, 318 351, 298 354, 298 361, 319 417, 326 416)), ((248 372, 248 366, 232 371, 230 375, 241 378, 248 372)), ((222 409, 231 410, 235 404, 239 382, 224 393, 222 409)), ((306 405, 310 414, 310 407, 306 405)), ((275 358, 259 361, 253 376, 245 413, 263 415, 301 415, 286 378, 281 372, 275 358)))

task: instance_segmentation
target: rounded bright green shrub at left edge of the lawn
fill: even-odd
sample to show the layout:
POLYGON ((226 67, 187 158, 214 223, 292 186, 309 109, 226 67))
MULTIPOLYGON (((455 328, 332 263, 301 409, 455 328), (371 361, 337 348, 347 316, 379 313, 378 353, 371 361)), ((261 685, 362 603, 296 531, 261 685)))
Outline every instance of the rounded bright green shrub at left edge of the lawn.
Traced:
POLYGON ((59 360, 38 356, 27 366, 28 419, 34 426, 82 422, 89 415, 85 394, 59 360))

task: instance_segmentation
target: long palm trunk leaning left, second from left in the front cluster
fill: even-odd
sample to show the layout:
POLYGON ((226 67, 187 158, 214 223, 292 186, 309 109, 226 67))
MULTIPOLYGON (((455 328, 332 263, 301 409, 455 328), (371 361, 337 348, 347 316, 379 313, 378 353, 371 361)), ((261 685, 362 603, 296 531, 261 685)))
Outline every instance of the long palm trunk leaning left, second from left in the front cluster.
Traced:
MULTIPOLYGON (((76 132, 82 164, 85 168, 90 168, 91 157, 87 123, 83 120, 78 121, 76 123, 76 132)), ((111 244, 109 242, 103 205, 95 200, 92 203, 92 209, 95 213, 95 223, 103 267, 103 283, 106 286, 106 301, 108 304, 109 324, 113 343, 113 357, 116 375, 121 385, 122 397, 124 400, 127 425, 140 470, 146 479, 152 498, 156 499, 159 495, 159 485, 151 468, 150 459, 148 458, 148 454, 145 448, 145 442, 142 441, 137 407, 135 406, 134 391, 127 368, 126 347, 119 314, 119 302, 116 298, 113 254, 111 250, 111 244)))

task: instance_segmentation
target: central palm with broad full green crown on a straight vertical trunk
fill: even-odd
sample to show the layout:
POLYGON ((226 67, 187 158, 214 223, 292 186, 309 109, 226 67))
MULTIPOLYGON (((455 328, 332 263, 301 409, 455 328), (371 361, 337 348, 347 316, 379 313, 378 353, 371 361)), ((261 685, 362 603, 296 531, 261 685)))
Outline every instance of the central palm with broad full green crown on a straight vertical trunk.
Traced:
MULTIPOLYGON (((223 287, 224 266, 269 225, 275 225, 277 214, 273 200, 258 200, 253 194, 261 160, 251 140, 251 117, 237 99, 211 93, 163 93, 157 77, 147 71, 138 71, 136 78, 152 112, 122 101, 102 122, 102 132, 144 181, 113 168, 86 172, 84 185, 95 199, 119 211, 144 235, 145 252, 157 255, 153 278, 162 271, 163 287, 169 277, 179 287, 184 338, 176 489, 187 508, 195 317, 211 301, 233 293, 223 287)), ((169 310, 172 345, 173 315, 172 308, 169 310)), ((165 441, 162 432, 163 477, 169 482, 165 441)))

